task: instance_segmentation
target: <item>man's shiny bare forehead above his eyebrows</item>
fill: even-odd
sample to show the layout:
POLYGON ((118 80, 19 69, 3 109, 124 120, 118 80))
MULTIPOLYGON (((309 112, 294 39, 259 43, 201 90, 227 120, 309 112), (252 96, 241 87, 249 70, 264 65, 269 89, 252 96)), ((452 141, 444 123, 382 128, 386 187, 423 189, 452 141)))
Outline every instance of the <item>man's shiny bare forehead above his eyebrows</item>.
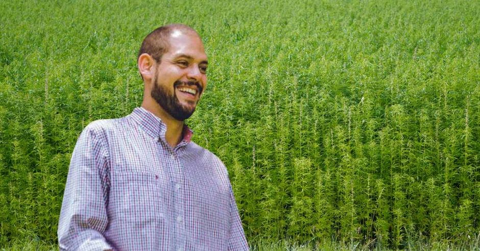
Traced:
POLYGON ((173 31, 169 37, 169 45, 170 48, 166 54, 172 58, 185 55, 195 61, 207 60, 203 42, 200 37, 193 32, 173 31))

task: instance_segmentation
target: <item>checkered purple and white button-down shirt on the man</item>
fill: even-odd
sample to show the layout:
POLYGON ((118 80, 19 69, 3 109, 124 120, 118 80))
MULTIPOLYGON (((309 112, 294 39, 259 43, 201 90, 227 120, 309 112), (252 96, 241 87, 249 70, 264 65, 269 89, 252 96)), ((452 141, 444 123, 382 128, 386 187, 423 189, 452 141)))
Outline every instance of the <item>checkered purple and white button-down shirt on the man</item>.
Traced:
POLYGON ((174 148, 143 108, 90 123, 71 157, 60 249, 247 250, 228 173, 190 141, 174 148))

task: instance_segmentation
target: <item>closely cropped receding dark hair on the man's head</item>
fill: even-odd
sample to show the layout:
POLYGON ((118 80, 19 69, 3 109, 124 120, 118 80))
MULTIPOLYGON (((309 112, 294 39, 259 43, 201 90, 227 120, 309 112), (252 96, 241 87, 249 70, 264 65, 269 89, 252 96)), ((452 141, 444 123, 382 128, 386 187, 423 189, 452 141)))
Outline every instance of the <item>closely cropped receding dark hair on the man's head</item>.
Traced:
POLYGON ((137 61, 140 55, 147 53, 152 56, 155 61, 160 62, 164 53, 170 49, 169 41, 167 40, 173 31, 181 30, 186 32, 193 32, 198 36, 198 33, 191 27, 181 23, 171 23, 166 26, 159 27, 148 34, 141 43, 137 55, 137 61))

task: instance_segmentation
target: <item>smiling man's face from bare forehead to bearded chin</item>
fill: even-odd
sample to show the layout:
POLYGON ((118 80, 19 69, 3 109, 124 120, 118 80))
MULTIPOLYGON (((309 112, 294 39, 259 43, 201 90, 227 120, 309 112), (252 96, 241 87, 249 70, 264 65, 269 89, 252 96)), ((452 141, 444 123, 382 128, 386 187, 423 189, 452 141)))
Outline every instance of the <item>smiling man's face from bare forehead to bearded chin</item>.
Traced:
POLYGON ((194 113, 207 85, 207 55, 196 34, 174 31, 169 51, 156 64, 152 97, 177 120, 194 113))

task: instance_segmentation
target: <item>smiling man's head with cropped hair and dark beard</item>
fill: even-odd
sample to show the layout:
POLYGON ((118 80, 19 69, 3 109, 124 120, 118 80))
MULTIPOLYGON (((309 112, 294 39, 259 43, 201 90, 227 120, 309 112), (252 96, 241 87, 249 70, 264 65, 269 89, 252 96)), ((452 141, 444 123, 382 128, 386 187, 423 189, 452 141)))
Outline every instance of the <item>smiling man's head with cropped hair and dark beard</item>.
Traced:
POLYGON ((207 84, 208 64, 195 30, 183 24, 154 30, 143 40, 137 62, 145 83, 143 105, 158 105, 176 120, 193 114, 207 84))

